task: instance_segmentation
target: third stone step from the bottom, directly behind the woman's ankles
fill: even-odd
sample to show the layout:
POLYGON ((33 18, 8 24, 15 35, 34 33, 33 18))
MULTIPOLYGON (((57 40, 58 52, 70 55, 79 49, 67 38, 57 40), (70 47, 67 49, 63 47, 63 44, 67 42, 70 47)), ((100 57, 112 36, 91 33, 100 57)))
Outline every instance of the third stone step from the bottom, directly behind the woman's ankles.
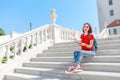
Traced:
MULTIPOLYGON (((24 67, 34 68, 54 68, 65 69, 71 66, 72 62, 26 62, 24 67)), ((85 71, 105 71, 105 72, 120 72, 120 63, 83 63, 81 64, 85 71)))

